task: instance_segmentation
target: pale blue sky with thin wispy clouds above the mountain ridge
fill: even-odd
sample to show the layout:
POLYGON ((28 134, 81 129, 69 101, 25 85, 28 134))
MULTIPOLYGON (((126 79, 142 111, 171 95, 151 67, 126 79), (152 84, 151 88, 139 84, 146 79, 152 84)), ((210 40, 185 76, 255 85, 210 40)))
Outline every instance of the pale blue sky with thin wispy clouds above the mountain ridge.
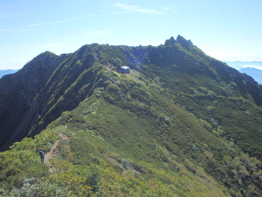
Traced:
POLYGON ((262 0, 0 0, 0 69, 84 44, 160 45, 178 34, 221 61, 262 61, 262 0))

